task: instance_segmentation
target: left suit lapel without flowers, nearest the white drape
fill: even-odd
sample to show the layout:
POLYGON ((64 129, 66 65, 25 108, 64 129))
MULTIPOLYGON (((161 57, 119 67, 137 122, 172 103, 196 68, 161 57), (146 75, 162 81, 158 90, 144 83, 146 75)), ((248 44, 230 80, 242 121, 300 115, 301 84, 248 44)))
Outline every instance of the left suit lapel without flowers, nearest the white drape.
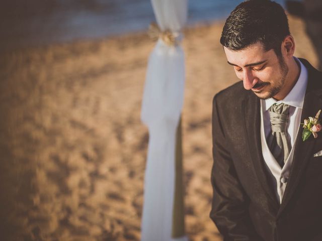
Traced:
POLYGON ((278 210, 279 203, 275 198, 273 187, 270 185, 270 180, 266 167, 264 164, 264 159, 262 155, 262 144, 261 144, 261 104, 260 99, 255 95, 249 95, 243 102, 244 106, 244 116, 245 116, 245 127, 247 133, 248 147, 250 148, 250 153, 252 156, 253 165, 255 167, 255 173, 260 181, 269 203, 272 204, 274 210, 278 210), (254 127, 255 126, 255 127, 254 127))

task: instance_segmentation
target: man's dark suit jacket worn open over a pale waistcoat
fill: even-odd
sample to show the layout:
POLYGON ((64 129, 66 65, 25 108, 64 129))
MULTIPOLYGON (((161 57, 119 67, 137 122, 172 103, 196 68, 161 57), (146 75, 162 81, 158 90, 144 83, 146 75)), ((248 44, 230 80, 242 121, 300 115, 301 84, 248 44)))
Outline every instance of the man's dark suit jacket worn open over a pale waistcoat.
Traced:
MULTIPOLYGON (((308 70, 301 123, 322 109, 322 72, 308 70)), ((321 119, 322 116, 320 116, 321 119)), ((322 132, 295 142, 293 164, 280 204, 265 168, 260 139, 260 99, 243 83, 213 99, 213 201, 211 219, 229 240, 322 240, 322 132)))

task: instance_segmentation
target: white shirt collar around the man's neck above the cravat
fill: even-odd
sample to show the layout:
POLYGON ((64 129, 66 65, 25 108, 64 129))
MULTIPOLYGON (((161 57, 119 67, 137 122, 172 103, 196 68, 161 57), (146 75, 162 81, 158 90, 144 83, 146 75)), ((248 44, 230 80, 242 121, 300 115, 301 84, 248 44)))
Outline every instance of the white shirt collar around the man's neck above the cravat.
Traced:
POLYGON ((299 61, 296 57, 294 58, 300 64, 300 75, 298 77, 298 80, 284 99, 278 101, 274 98, 262 100, 265 111, 268 110, 274 103, 284 103, 297 108, 303 108, 305 90, 307 85, 307 69, 301 63, 301 61, 299 61))

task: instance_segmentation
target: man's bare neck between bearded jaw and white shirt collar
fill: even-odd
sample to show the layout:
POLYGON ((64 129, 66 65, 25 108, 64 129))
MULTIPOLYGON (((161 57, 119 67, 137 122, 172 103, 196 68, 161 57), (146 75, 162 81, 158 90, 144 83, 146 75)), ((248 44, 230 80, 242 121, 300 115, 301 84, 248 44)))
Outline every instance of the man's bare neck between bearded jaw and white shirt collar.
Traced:
POLYGON ((285 82, 281 90, 274 96, 274 98, 277 100, 284 99, 286 95, 288 95, 288 93, 292 90, 292 88, 296 84, 298 77, 300 75, 300 64, 297 63, 294 57, 287 65, 288 65, 288 73, 286 75, 285 82))

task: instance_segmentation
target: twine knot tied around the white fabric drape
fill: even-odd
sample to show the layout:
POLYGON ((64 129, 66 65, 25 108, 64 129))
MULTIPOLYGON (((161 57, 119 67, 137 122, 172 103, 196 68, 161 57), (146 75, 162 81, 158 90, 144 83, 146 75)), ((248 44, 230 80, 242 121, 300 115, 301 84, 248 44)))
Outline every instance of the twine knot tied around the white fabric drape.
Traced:
POLYGON ((153 40, 157 40, 158 38, 162 39, 169 46, 179 45, 183 37, 180 32, 172 32, 169 29, 162 31, 156 23, 150 24, 148 35, 153 40))

